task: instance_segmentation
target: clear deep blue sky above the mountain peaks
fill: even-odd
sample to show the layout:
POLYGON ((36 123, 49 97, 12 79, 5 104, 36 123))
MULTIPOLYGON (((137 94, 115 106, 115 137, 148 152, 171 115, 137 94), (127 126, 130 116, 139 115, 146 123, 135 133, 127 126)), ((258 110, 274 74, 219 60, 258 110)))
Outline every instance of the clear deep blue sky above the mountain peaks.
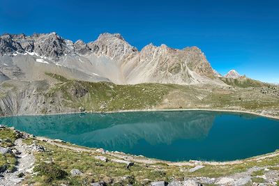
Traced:
POLYGON ((197 46, 223 75, 279 82, 278 0, 0 0, 0 33, 52 31, 85 42, 121 33, 138 49, 197 46))

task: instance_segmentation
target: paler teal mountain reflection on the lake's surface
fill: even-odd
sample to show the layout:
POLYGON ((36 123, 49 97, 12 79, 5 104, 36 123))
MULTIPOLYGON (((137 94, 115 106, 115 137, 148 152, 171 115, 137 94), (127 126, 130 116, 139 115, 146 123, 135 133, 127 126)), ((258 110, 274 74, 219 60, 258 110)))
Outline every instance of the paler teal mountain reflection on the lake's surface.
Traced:
POLYGON ((13 123, 19 130, 83 146, 108 150, 122 146, 128 150, 139 140, 169 145, 177 139, 202 139, 209 133, 214 118, 207 112, 158 111, 20 116, 2 118, 1 124, 13 123))

